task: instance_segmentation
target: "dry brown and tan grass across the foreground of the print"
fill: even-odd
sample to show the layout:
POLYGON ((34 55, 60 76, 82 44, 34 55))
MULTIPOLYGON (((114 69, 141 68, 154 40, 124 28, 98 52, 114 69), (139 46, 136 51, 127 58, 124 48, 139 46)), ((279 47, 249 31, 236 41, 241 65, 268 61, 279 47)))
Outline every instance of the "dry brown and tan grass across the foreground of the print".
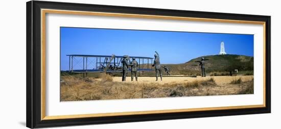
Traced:
POLYGON ((63 76, 60 86, 61 101, 159 98, 180 96, 206 96, 252 94, 251 87, 243 83, 219 85, 213 77, 192 81, 170 82, 118 82, 110 75, 98 78, 63 76))

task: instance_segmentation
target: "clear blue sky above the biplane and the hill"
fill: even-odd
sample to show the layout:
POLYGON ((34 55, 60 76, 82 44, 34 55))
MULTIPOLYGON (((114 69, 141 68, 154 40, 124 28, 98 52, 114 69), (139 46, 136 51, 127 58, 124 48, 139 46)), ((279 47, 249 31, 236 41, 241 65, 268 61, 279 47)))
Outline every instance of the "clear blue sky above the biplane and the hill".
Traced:
POLYGON ((247 34, 61 27, 61 70, 68 70, 67 54, 154 57, 156 50, 161 63, 184 63, 218 54, 221 41, 227 54, 253 56, 253 35, 247 34))

